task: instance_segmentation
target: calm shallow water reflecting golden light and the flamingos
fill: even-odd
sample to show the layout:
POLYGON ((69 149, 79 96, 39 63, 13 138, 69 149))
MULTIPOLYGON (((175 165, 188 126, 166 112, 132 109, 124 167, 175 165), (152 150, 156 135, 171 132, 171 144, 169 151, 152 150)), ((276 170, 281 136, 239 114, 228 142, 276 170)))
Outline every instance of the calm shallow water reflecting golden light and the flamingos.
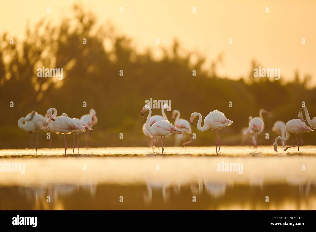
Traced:
POLYGON ((147 147, 69 148, 67 156, 62 148, 37 156, 35 149, 0 150, 0 165, 25 164, 25 174, 0 172, 0 209, 316 210, 315 149, 222 146, 217 155, 214 146, 165 147, 161 155, 147 147), (242 171, 220 172, 222 162, 242 164, 242 171))

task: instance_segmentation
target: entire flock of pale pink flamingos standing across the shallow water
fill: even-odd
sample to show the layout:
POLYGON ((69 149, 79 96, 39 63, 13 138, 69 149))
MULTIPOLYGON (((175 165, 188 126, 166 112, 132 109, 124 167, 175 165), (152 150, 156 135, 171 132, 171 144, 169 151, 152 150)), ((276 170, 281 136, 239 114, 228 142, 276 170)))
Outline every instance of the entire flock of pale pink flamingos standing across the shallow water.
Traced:
MULTIPOLYGON (((207 130, 215 130, 216 131, 216 153, 220 152, 222 141, 219 136, 218 131, 225 126, 229 126, 233 123, 233 121, 229 120, 225 117, 225 115, 218 111, 213 110, 211 111, 205 118, 203 127, 202 124, 202 115, 200 113, 192 113, 190 120, 187 121, 183 118, 180 118, 179 110, 172 111, 172 118, 175 119, 174 125, 168 121, 167 115, 165 114, 165 109, 170 110, 169 106, 165 104, 161 109, 161 115, 154 115, 151 116, 151 108, 149 105, 144 105, 143 110, 141 111, 142 115, 144 116, 145 111, 149 111, 147 120, 143 124, 143 133, 147 137, 148 141, 148 148, 149 148, 149 139, 153 139, 153 146, 152 149, 155 148, 155 145, 158 146, 158 142, 156 136, 161 137, 161 146, 162 146, 162 154, 164 151, 163 148, 163 139, 171 134, 183 134, 183 144, 182 147, 186 146, 188 143, 191 143, 192 137, 192 130, 191 125, 193 125, 193 121, 196 117, 198 117, 197 121, 197 129, 199 131, 207 131, 207 130), (191 123, 191 125, 190 125, 191 123), (190 137, 190 141, 185 142, 185 134, 188 134, 190 137), (219 145, 219 147, 218 147, 219 145), (217 152, 218 147, 218 152, 217 152)), ((257 149, 258 146, 258 135, 262 133, 264 130, 264 119, 263 114, 267 114, 268 111, 261 109, 259 111, 259 117, 249 117, 248 120, 248 128, 243 131, 243 134, 247 137, 252 137, 252 143, 257 149)), ((89 130, 92 130, 92 126, 98 122, 96 117, 96 112, 94 109, 91 109, 89 114, 83 115, 80 119, 78 118, 70 118, 67 114, 63 113, 61 116, 57 116, 57 110, 55 108, 50 108, 47 110, 45 116, 38 114, 36 111, 32 111, 26 117, 21 117, 18 120, 18 126, 27 131, 27 132, 37 132, 36 136, 36 152, 38 148, 38 132, 40 130, 52 131, 56 132, 57 134, 61 133, 64 134, 65 138, 65 155, 67 150, 66 144, 66 134, 73 134, 74 144, 73 144, 73 152, 75 150, 75 134, 77 134, 77 148, 79 153, 79 137, 78 134, 85 133, 86 138, 86 147, 88 147, 88 133, 89 130)), ((286 124, 283 121, 276 121, 273 125, 272 131, 278 134, 279 136, 276 137, 273 147, 274 151, 277 152, 277 141, 281 140, 282 145, 284 147, 284 142, 289 140, 290 133, 295 134, 297 145, 289 146, 284 149, 286 151, 290 147, 296 147, 299 151, 300 146, 303 146, 303 140, 301 137, 301 133, 305 131, 313 131, 316 127, 316 117, 312 120, 308 114, 308 110, 305 106, 302 106, 297 119, 289 120, 286 124), (303 118, 302 111, 304 110, 306 120, 303 118), (310 125, 307 126, 306 122, 310 125), (297 135, 300 137, 301 144, 299 144, 297 135)), ((50 143, 51 144, 51 143, 50 143)), ((50 145, 51 148, 51 145, 50 145)), ((159 148, 159 146, 158 146, 159 148)))

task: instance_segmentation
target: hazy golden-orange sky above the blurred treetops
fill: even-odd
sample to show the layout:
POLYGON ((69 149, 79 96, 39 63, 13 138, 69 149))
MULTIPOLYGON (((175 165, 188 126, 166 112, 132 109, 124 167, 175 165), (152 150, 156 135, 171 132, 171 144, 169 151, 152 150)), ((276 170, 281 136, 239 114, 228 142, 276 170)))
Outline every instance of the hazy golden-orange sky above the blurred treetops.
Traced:
POLYGON ((255 59, 262 68, 280 68, 283 80, 292 79, 299 70, 301 76, 311 74, 311 85, 316 85, 316 1, 10 0, 0 3, 0 33, 23 38, 27 20, 31 26, 42 18, 58 23, 71 14, 73 3, 93 11, 99 24, 110 20, 119 33, 134 39, 139 51, 147 47, 158 51, 177 38, 186 51, 207 57, 207 64, 222 53, 219 75, 246 76, 255 59), (46 13, 47 6, 51 13, 46 13))

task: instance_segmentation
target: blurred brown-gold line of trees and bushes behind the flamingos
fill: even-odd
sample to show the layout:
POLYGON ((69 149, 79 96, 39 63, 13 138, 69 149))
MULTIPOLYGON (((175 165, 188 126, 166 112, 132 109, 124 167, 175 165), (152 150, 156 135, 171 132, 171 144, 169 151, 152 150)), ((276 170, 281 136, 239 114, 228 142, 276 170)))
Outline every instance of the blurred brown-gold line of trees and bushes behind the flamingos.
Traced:
MULTIPOLYGON (((212 110, 222 111, 234 123, 220 131, 223 145, 239 145, 240 131, 248 125, 249 116, 258 116, 260 108, 269 110, 264 116, 265 130, 259 144, 272 145, 272 125, 276 120, 287 122, 297 118, 302 101, 311 116, 316 114, 316 88, 307 88, 309 76, 285 83, 282 79, 253 77, 252 62, 249 76, 240 80, 219 77, 216 68, 222 57, 202 68, 204 57, 194 52, 179 55, 181 47, 175 40, 171 48, 162 48, 163 57, 155 59, 148 49, 138 53, 133 41, 118 35, 107 24, 97 27, 94 14, 81 6, 73 8, 74 17, 65 18, 57 26, 40 21, 34 28, 27 26, 23 41, 14 39, 10 44, 7 33, 0 38, 0 148, 33 148, 35 135, 29 135, 17 126, 17 120, 32 110, 45 115, 50 107, 58 116, 67 113, 80 118, 91 108, 97 112, 98 124, 90 133, 89 146, 147 146, 142 132, 146 121, 141 110, 146 99, 171 100, 172 109, 189 120, 192 112, 205 117, 212 110), (83 44, 83 39, 87 44, 83 44), (110 46, 108 46, 110 45, 110 46), (197 59, 193 63, 191 58, 197 59), (64 68, 64 79, 37 77, 37 68, 64 68), (119 75, 123 70, 123 76, 119 75), (196 76, 192 76, 196 70, 196 76), (14 107, 10 108, 10 102, 14 107), (87 108, 83 102, 87 102, 87 108), (233 107, 228 107, 229 102, 233 107), (123 139, 119 139, 123 133, 123 139), (269 133, 269 139, 264 134, 269 133)), ((153 115, 161 114, 154 109, 153 115)), ((171 114, 167 112, 168 119, 171 114)), ((192 146, 215 145, 214 131, 199 132, 197 119, 192 130, 197 139, 192 146)), ((48 147, 46 133, 40 132, 40 147, 48 147)), ((84 144, 84 136, 81 144, 84 144)), ((171 136, 173 137, 173 136, 171 136)), ((315 144, 312 133, 304 133, 306 144, 315 144)), ((52 134, 54 147, 63 147, 63 136, 52 134)), ((69 146, 72 136, 68 136, 69 146)), ((296 142, 291 136, 289 143, 296 142)), ((166 140, 173 145, 173 138, 166 140)))

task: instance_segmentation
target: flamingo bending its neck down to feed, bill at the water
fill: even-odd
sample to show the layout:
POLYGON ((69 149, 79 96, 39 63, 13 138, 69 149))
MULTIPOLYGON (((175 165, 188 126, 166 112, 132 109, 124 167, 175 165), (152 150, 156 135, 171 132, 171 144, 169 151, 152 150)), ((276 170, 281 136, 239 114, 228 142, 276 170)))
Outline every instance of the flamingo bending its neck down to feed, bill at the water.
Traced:
MULTIPOLYGON (((288 141, 290 138, 290 133, 295 134, 296 142, 297 142, 297 150, 300 151, 300 146, 304 145, 304 142, 303 142, 302 137, 301 137, 301 133, 303 133, 305 131, 313 131, 313 130, 309 126, 307 126, 304 122, 302 122, 301 119, 295 118, 295 119, 288 121, 285 124, 285 131, 286 131, 286 137, 283 138, 281 136, 278 136, 278 137, 276 137, 276 140, 273 143, 273 147, 274 147, 275 152, 277 152, 277 149, 276 149, 277 148, 277 140, 280 139, 282 141, 288 141), (300 136, 300 139, 302 142, 301 145, 298 144, 297 135, 300 136)), ((286 147, 284 149, 284 152, 290 147, 295 147, 295 146, 286 147)))

